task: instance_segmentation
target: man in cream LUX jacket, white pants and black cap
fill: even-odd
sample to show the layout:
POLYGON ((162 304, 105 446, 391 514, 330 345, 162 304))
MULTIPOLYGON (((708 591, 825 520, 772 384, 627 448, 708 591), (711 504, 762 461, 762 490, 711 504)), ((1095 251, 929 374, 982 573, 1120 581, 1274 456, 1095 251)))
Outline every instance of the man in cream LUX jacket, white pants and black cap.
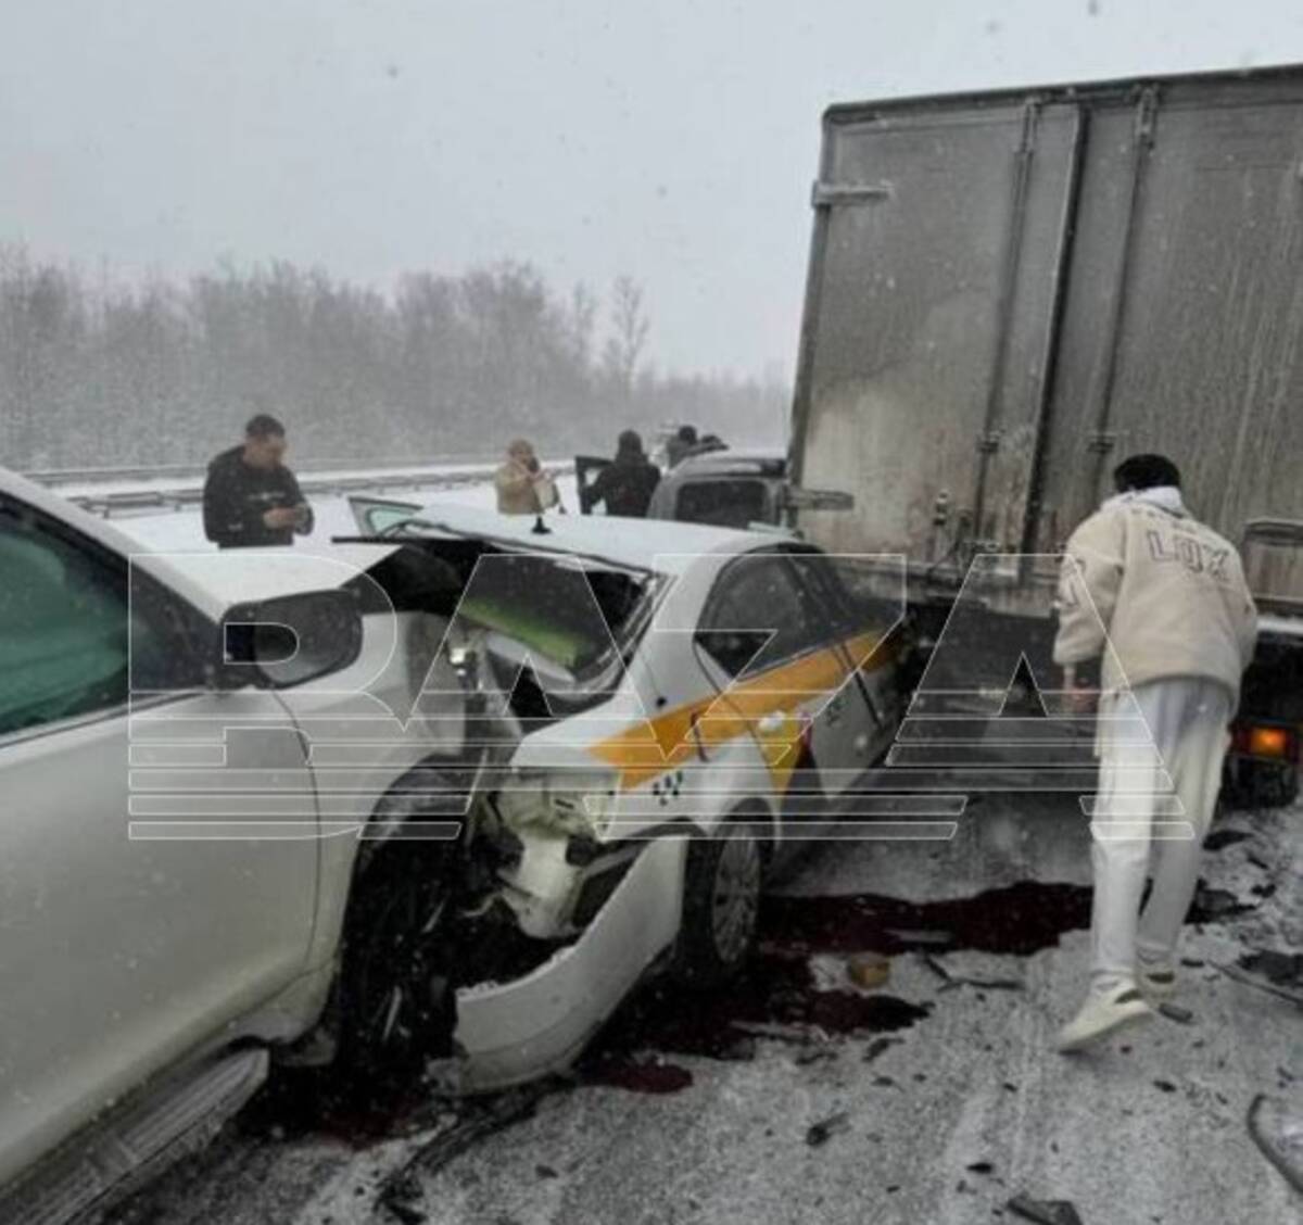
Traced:
POLYGON ((1239 554, 1186 511, 1175 464, 1136 455, 1113 476, 1118 495, 1067 542, 1057 599, 1054 661, 1078 705, 1078 665, 1102 657, 1091 990, 1061 1050, 1152 1016, 1175 988, 1177 938, 1257 633, 1239 554))

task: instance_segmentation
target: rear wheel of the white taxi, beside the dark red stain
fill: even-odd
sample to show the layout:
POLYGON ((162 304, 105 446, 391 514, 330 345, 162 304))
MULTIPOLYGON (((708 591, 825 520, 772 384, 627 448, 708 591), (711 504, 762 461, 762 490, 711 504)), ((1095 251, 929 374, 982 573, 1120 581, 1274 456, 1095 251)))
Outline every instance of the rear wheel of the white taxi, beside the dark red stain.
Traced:
POLYGON ((710 989, 741 972, 756 941, 764 872, 761 830, 744 817, 688 844, 675 950, 680 980, 710 989))

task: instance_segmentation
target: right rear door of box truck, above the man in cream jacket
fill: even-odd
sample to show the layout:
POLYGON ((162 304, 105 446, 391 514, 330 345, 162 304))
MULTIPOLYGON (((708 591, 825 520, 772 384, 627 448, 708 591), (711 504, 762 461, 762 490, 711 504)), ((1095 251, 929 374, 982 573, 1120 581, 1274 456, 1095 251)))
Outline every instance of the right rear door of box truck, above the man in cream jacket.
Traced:
POLYGON ((1089 122, 1040 546, 1143 451, 1231 540, 1303 516, 1303 79, 1160 82, 1089 122))

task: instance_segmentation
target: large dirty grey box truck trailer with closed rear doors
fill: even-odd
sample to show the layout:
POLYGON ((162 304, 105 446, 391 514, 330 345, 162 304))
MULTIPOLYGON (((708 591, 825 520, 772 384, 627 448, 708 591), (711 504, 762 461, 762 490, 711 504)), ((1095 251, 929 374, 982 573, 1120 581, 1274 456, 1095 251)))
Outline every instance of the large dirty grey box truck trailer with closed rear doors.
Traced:
POLYGON ((924 652, 979 606, 1044 688, 1065 541, 1171 456, 1263 612, 1233 782, 1293 796, 1303 66, 834 106, 812 203, 790 474, 855 511, 801 530, 903 556, 924 652))

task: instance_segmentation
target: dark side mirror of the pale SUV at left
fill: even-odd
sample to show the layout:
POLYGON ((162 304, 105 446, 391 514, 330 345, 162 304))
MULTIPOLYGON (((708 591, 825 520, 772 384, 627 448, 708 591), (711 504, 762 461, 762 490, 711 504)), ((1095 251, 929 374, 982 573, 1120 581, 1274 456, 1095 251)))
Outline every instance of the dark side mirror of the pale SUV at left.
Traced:
POLYGON ((348 667, 362 650, 362 610, 348 590, 236 605, 222 618, 225 687, 283 689, 348 667))

